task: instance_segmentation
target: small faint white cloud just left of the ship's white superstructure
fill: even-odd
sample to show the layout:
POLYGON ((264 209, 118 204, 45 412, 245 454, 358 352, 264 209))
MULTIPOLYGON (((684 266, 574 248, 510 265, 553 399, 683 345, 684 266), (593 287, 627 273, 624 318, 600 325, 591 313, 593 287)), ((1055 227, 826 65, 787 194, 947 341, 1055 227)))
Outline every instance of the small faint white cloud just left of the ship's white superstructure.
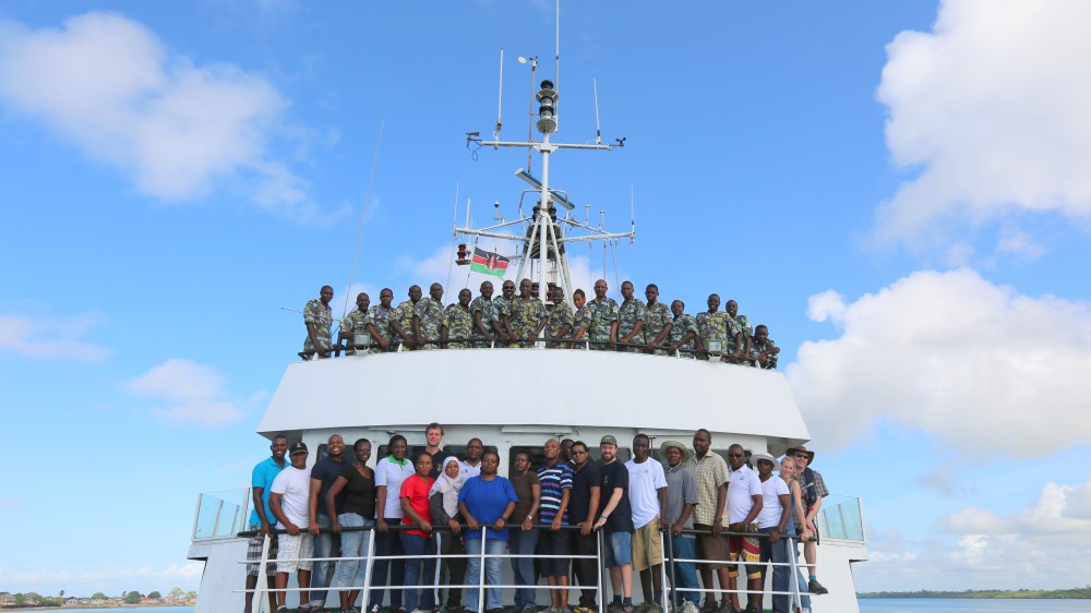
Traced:
POLYGON ((209 426, 241 420, 245 413, 240 405, 261 399, 259 393, 245 402, 232 400, 225 389, 224 377, 212 366, 178 358, 125 382, 124 388, 157 402, 147 407, 156 417, 170 422, 209 426))

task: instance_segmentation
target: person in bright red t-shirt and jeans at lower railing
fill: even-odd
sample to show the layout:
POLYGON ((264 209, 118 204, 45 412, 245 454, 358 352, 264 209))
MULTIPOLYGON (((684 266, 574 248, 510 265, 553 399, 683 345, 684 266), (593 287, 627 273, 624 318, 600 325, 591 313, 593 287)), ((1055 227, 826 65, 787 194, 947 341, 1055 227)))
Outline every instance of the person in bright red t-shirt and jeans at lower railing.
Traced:
POLYGON ((421 452, 417 455, 417 473, 401 482, 401 524, 419 529, 401 531, 401 549, 406 560, 405 603, 410 613, 431 613, 435 591, 431 589, 435 575, 435 539, 432 538, 432 512, 428 508, 428 493, 435 483, 432 472, 432 455, 421 452), (421 578, 420 567, 424 565, 424 593, 417 606, 417 582, 421 578))

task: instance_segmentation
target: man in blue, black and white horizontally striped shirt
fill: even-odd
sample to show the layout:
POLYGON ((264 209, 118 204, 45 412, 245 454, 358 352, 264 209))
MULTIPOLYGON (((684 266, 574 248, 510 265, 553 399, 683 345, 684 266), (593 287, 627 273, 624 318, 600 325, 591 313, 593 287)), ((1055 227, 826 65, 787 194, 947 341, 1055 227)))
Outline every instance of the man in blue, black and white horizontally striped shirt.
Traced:
MULTIPOLYGON (((568 585, 568 561, 572 545, 568 531, 568 496, 572 494, 572 468, 561 460, 561 443, 556 438, 546 441, 546 464, 538 469, 542 494, 539 514, 542 524, 550 527, 538 537, 538 553, 555 555, 541 561, 542 575, 550 586, 568 585)), ((550 590, 550 609, 556 613, 572 613, 568 609, 568 590, 550 590)))

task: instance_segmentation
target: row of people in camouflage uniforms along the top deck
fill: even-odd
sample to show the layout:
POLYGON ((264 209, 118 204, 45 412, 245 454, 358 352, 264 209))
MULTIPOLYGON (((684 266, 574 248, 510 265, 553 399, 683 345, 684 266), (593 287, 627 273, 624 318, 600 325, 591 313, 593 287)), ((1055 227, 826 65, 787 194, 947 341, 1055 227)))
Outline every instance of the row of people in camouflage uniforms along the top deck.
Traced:
POLYGON ((334 290, 324 286, 319 298, 307 303, 303 323, 307 338, 302 354, 327 358, 338 353, 345 341, 356 351, 356 339, 364 335, 372 352, 439 348, 533 347, 539 338, 551 348, 584 347, 678 354, 684 358, 723 360, 762 369, 776 369, 780 348, 769 338, 765 325, 751 326, 739 314, 739 303, 729 300, 720 311, 720 297, 708 297, 708 310, 696 316, 685 313, 685 303, 659 301, 659 288, 650 284, 644 291, 647 302, 634 297, 631 281, 621 285, 622 303, 607 296, 607 281, 595 281, 595 298, 584 290, 565 301, 561 288, 549 290, 543 303, 532 291, 530 279, 505 280, 501 296, 493 298, 492 281, 484 281, 476 298, 469 289, 458 292, 458 301, 443 304, 443 286, 435 283, 429 295, 420 286, 409 288, 409 298, 393 305, 394 292, 379 293, 377 305, 361 292, 356 310, 340 320, 337 344, 333 337, 329 301, 334 290))

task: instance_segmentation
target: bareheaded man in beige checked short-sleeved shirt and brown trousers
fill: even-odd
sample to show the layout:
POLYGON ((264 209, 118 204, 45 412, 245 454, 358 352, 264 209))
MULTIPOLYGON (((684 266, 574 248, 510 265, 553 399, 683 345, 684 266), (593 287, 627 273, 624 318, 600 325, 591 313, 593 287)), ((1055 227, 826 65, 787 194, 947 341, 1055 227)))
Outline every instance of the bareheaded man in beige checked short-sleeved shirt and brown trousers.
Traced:
MULTIPOLYGON (((697 482, 697 507, 693 514, 693 527, 703 533, 697 537, 697 560, 705 560, 700 565, 700 581, 705 589, 712 589, 712 570, 720 580, 720 589, 728 586, 728 541, 723 532, 723 509, 728 501, 728 464, 719 454, 709 450, 712 435, 702 428, 693 435, 693 476, 697 482)), ((731 602, 728 594, 717 605, 716 592, 706 592, 705 602, 700 605, 702 613, 730 611, 731 602)))

